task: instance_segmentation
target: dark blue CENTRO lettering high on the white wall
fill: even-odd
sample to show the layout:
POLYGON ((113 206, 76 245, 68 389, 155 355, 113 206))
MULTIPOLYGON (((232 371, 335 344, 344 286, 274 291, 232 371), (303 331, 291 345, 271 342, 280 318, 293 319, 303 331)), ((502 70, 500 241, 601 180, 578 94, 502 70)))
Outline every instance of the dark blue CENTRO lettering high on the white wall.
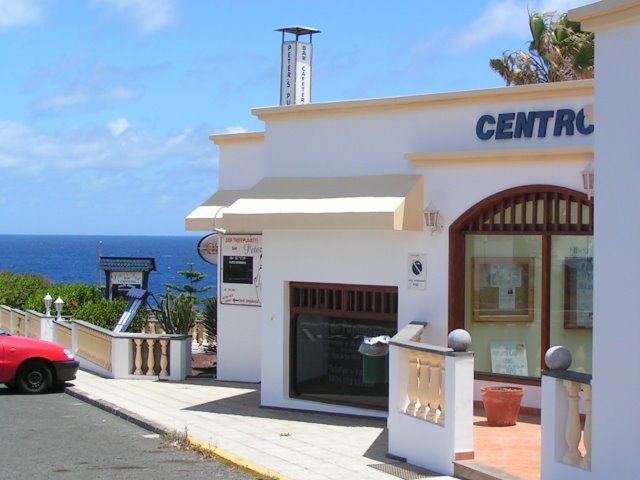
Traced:
POLYGON ((476 135, 480 140, 505 140, 531 138, 535 132, 538 138, 544 138, 551 125, 554 137, 572 136, 575 130, 582 135, 593 133, 593 125, 586 124, 584 108, 577 114, 568 108, 561 108, 556 111, 501 113, 497 119, 493 115, 482 115, 476 123, 476 135))

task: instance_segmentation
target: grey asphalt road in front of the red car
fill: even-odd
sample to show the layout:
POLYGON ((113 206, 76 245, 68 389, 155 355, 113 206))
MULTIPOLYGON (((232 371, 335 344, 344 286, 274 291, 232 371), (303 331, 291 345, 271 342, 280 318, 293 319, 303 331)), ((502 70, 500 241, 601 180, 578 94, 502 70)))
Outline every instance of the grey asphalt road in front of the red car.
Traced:
POLYGON ((255 480, 62 391, 0 386, 0 480, 159 478, 255 480))

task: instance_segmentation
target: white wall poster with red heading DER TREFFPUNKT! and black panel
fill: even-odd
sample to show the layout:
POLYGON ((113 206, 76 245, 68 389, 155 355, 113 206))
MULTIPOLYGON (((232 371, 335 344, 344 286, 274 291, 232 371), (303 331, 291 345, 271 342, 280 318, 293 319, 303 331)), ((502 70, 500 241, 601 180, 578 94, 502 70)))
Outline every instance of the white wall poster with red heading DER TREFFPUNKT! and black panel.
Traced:
POLYGON ((220 303, 262 304, 262 235, 229 234, 221 239, 220 303))

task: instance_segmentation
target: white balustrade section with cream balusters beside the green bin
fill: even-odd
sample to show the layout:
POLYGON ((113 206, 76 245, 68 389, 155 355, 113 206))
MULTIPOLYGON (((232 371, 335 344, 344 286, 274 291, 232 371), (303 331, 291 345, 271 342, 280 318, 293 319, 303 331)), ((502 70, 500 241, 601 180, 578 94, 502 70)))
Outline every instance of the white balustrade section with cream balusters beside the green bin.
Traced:
POLYGON ((468 342, 425 343, 425 326, 411 323, 389 342, 389 453, 452 475, 455 460, 473 458, 473 353, 468 342))

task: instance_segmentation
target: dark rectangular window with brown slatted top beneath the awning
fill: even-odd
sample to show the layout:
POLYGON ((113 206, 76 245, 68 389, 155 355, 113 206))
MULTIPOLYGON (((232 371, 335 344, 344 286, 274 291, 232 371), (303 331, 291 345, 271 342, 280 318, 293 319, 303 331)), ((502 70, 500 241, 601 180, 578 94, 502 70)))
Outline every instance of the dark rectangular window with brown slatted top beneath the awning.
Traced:
POLYGON ((386 410, 396 287, 291 283, 290 396, 386 410))

